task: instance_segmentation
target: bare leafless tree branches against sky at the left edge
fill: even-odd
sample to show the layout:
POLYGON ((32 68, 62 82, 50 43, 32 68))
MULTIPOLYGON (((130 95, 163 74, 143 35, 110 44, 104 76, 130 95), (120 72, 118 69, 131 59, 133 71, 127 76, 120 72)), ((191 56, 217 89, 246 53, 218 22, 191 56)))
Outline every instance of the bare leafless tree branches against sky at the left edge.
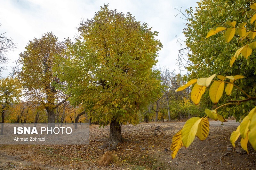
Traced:
MULTIPOLYGON (((2 24, 0 24, 1 26, 2 24)), ((8 58, 5 56, 9 50, 14 50, 16 48, 16 44, 12 41, 12 38, 7 38, 5 35, 6 32, 0 33, 0 74, 3 70, 5 70, 2 64, 7 63, 8 58)))

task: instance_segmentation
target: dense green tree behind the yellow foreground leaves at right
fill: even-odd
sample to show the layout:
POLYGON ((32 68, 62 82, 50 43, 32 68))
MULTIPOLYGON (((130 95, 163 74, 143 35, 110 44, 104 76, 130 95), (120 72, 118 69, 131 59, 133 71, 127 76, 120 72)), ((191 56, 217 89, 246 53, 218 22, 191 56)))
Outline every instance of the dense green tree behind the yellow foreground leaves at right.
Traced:
MULTIPOLYGON (((239 41, 239 35, 236 33, 229 43, 225 41, 225 36, 221 33, 214 35, 214 38, 205 38, 210 29, 218 26, 229 27, 227 22, 236 21, 237 23, 246 23, 247 28, 254 28, 250 23, 250 18, 254 11, 250 9, 250 0, 246 1, 226 1, 226 0, 201 0, 198 2, 196 11, 187 10, 188 24, 184 29, 186 45, 190 48, 188 60, 190 65, 187 67, 190 75, 188 79, 209 77, 216 73, 217 75, 244 75, 246 81, 239 79, 237 85, 245 92, 254 96, 256 93, 256 52, 253 51, 248 60, 239 57, 230 67, 229 61, 234 56, 233 51, 243 45, 239 41)), ((247 39, 247 38, 246 38, 247 39)), ((250 40, 252 41, 252 40, 250 40)), ((233 91, 230 96, 222 96, 220 104, 226 100, 240 100, 245 96, 233 91)), ((204 95, 204 104, 208 108, 214 108, 209 98, 209 92, 204 95)), ((249 110, 255 106, 255 101, 248 101, 239 106, 230 106, 222 109, 220 113, 226 118, 228 115, 234 115, 237 120, 243 118, 249 110)))

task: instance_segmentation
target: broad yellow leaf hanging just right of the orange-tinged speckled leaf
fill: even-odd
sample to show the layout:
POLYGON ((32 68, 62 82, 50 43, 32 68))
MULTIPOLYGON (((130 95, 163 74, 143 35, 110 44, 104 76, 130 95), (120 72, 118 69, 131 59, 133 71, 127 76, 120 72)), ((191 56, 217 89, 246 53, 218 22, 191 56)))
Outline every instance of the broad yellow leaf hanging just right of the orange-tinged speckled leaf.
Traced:
POLYGON ((220 100, 222 93, 224 91, 224 82, 215 81, 212 83, 210 90, 209 90, 209 96, 213 103, 218 103, 220 100))

